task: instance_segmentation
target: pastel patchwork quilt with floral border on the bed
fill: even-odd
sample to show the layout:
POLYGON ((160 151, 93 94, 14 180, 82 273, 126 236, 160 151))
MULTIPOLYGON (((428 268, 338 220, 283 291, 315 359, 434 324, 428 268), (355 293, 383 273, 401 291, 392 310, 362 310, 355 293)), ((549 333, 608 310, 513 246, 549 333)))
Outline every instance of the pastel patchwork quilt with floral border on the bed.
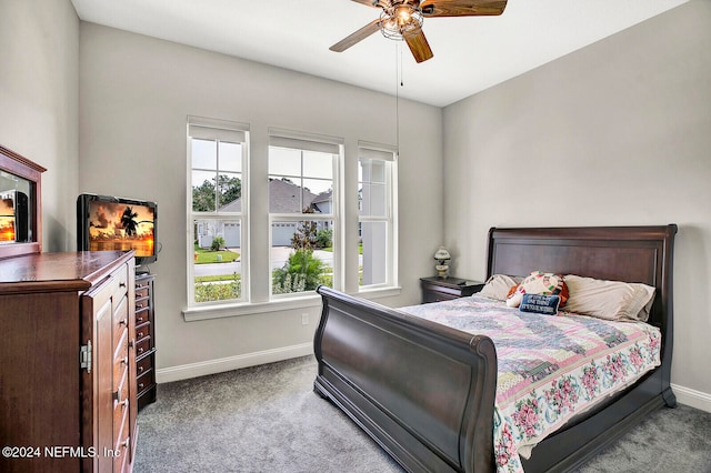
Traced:
POLYGON ((499 472, 523 472, 538 442, 660 364, 661 332, 643 322, 520 312, 475 294, 401 310, 493 340, 499 472))

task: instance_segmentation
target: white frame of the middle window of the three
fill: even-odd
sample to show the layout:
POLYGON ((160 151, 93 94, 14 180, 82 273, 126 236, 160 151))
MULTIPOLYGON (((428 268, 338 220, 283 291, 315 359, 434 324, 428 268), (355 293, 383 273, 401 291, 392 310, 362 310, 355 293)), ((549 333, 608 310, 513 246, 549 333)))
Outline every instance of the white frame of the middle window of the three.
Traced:
MULTIPOLYGON (((319 151, 333 154, 333 183, 332 183, 332 204, 330 214, 319 213, 271 213, 269 212, 269 248, 272 248, 272 229, 274 222, 301 222, 301 221, 330 221, 333 229, 333 288, 343 288, 343 212, 342 212, 342 161, 343 161, 343 139, 337 137, 328 137, 323 134, 307 133, 293 130, 284 130, 278 128, 269 128, 269 150, 272 148, 289 148, 303 151, 319 151)), ((302 170, 303 177, 303 170, 302 170)), ((268 175, 269 172, 268 164, 268 175)), ((271 258, 269 258, 269 299, 271 301, 282 301, 287 299, 303 298, 304 295, 313 295, 314 291, 303 291, 287 294, 272 293, 272 271, 271 258)))

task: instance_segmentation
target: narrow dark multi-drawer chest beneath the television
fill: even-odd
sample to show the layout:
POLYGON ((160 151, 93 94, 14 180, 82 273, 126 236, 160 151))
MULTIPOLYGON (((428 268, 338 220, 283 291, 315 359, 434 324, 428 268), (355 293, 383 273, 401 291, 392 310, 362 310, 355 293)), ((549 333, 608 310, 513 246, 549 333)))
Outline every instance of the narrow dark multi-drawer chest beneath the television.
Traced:
POLYGON ((156 321, 153 283, 149 273, 136 275, 136 384, 138 409, 156 402, 156 321))

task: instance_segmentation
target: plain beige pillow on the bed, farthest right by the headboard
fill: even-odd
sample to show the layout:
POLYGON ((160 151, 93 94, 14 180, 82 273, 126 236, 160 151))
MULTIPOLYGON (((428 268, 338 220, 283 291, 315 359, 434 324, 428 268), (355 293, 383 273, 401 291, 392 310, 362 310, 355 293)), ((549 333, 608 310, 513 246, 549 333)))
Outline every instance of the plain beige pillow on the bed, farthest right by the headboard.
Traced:
POLYGON ((565 275, 570 299, 565 311, 605 320, 647 322, 654 302, 654 288, 622 281, 565 275))

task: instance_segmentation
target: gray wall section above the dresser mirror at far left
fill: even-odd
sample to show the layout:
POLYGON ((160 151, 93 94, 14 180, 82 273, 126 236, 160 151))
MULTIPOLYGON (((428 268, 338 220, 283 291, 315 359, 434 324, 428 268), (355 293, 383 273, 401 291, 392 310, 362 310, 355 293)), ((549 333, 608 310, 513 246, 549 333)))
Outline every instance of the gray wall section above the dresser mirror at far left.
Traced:
POLYGON ((44 251, 76 248, 79 19, 71 2, 0 0, 0 143, 47 168, 44 251))

